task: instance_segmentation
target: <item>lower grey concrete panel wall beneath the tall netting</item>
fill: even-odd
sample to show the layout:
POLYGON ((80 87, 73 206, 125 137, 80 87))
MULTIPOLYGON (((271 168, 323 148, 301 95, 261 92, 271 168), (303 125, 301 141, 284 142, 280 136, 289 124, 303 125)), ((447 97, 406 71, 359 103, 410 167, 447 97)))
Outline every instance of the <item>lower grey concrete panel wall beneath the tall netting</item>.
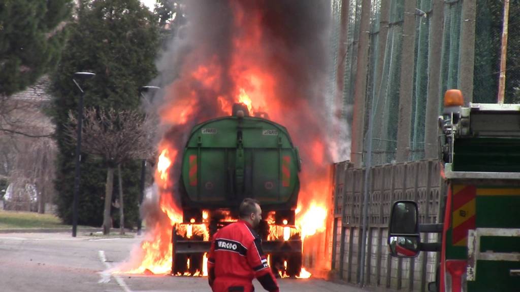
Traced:
MULTIPOLYGON (((391 257, 386 242, 388 221, 394 201, 414 200, 419 205, 420 223, 438 222, 444 190, 439 165, 426 160, 372 168, 365 244, 361 242, 364 171, 348 162, 335 165, 332 273, 359 284, 364 246, 366 285, 424 291, 428 282, 435 281, 438 255, 421 252, 414 259, 391 257)), ((437 242, 438 238, 434 233, 421 234, 421 242, 437 242)))

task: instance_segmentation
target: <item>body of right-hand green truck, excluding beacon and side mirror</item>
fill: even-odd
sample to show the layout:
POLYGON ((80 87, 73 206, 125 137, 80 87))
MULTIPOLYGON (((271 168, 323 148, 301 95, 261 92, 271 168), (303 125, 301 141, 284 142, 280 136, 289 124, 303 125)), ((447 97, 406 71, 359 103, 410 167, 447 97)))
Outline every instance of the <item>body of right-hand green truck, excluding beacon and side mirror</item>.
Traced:
POLYGON ((458 261, 463 291, 520 291, 520 105, 475 103, 453 114, 444 286, 458 261))

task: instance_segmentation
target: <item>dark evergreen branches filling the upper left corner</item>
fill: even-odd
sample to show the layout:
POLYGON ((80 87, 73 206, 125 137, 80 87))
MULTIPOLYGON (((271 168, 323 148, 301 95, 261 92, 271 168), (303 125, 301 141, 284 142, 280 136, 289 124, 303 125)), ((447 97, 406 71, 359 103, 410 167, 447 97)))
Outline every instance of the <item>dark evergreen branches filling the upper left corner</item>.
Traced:
POLYGON ((54 69, 66 41, 72 0, 0 0, 0 95, 54 69))

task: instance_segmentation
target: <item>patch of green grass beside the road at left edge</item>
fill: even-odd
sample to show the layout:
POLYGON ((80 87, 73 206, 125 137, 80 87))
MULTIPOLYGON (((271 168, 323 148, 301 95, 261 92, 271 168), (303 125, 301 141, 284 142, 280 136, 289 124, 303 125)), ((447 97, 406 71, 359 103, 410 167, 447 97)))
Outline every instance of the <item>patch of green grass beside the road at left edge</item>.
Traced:
POLYGON ((52 214, 0 210, 0 229, 19 228, 70 228, 52 214))

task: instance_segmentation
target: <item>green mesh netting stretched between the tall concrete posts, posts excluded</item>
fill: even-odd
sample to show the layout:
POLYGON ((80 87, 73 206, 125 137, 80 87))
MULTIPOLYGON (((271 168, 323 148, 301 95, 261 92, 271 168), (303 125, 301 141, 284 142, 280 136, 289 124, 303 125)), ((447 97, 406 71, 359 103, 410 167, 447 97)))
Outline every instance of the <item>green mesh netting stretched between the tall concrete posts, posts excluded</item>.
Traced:
MULTIPOLYGON (((370 38, 367 47, 358 47, 362 0, 348 0, 348 30, 346 51, 337 54, 341 32, 341 0, 331 0, 332 32, 330 96, 337 96, 334 85, 337 68, 343 68, 343 113, 354 104, 355 79, 358 74, 358 50, 367 50, 368 75, 365 107, 365 132, 371 112, 375 113, 373 128, 373 164, 395 160, 399 121, 399 96, 401 72, 413 78, 410 114, 409 160, 424 158, 425 116, 428 88, 439 89, 440 113, 446 89, 460 87, 461 28, 464 21, 462 0, 446 0, 434 6, 434 0, 415 1, 415 43, 413 56, 402 56, 403 20, 405 0, 370 1, 370 38), (435 11, 436 10, 436 11, 435 11), (441 27, 433 27, 431 18, 443 14, 441 27), (439 84, 430 83, 430 42, 434 35, 442 35, 439 84), (413 68, 401 68, 403 58, 413 58, 413 68)), ((466 4, 469 2, 466 2, 466 4)), ((475 3, 475 2, 473 2, 475 3)), ((473 102, 496 102, 500 75, 500 44, 503 21, 503 1, 476 0, 475 58, 473 102)), ((505 102, 520 102, 520 0, 511 0, 509 38, 506 66, 505 102)), ((405 76, 405 75, 404 75, 405 76)), ((340 81, 341 82, 341 81, 340 81)), ((408 94, 408 92, 403 92, 408 94)), ((354 109, 354 111, 359 109, 354 109)), ((352 115, 346 116, 352 123, 352 115)), ((365 135, 363 135, 365 136, 365 135)), ((363 137, 366 139, 366 137, 363 137)), ((365 150, 366 151, 366 150, 365 150)), ((366 153, 365 153, 366 154, 366 153)))

